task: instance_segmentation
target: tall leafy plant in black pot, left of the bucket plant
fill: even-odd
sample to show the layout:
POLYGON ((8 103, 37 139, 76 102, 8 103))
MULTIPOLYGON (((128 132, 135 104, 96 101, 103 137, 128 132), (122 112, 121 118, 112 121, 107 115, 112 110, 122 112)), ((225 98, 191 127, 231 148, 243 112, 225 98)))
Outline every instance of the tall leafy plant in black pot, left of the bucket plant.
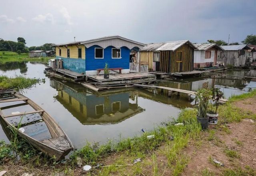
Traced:
POLYGON ((197 121, 200 122, 202 129, 208 128, 209 118, 207 116, 207 108, 211 99, 212 91, 209 88, 201 88, 196 92, 196 108, 198 110, 197 121))

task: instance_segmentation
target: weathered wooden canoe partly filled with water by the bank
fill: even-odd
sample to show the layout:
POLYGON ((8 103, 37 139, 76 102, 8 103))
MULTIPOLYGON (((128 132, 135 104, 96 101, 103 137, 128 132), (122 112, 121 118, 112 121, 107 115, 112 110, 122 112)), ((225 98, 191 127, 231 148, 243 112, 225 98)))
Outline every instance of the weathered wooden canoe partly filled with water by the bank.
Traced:
POLYGON ((57 122, 35 102, 13 90, 0 90, 0 116, 32 146, 61 160, 73 148, 57 122), (21 124, 17 129, 18 124, 21 124))

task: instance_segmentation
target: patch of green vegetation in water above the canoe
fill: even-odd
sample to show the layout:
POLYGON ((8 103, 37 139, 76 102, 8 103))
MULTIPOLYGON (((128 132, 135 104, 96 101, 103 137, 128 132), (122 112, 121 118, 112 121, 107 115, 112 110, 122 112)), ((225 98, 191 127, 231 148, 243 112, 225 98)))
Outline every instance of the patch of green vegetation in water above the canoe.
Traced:
POLYGON ((25 78, 24 76, 16 76, 14 78, 9 78, 8 76, 0 76, 0 89, 22 90, 31 88, 41 81, 44 82, 44 79, 40 80, 36 78, 25 78))

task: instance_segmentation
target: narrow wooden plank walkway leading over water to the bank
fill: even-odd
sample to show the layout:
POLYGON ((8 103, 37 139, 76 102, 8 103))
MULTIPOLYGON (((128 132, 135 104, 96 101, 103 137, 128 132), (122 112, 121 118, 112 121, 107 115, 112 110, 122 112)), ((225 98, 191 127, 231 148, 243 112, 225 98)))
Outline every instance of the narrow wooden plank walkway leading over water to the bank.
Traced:
MULTIPOLYGON (((185 93, 185 94, 188 94, 189 98, 190 98, 191 95, 196 95, 196 92, 191 91, 191 90, 176 89, 176 88, 170 88, 170 87, 164 87, 164 86, 151 86, 151 85, 142 85, 142 84, 133 84, 133 86, 142 87, 142 88, 160 88, 160 89, 165 89, 165 90, 169 90, 169 94, 172 94, 174 92, 185 93)), ((222 102, 222 103, 225 103, 228 100, 221 98, 219 101, 222 102)))

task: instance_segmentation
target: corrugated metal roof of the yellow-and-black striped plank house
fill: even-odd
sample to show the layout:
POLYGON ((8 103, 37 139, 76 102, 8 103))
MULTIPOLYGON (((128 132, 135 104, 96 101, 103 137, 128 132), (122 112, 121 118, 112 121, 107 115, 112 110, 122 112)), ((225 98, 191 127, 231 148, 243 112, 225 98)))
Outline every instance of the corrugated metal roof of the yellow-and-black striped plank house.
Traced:
POLYGON ((162 42, 162 43, 152 43, 144 46, 142 51, 174 51, 180 46, 188 43, 192 48, 197 49, 189 40, 180 40, 180 41, 171 41, 171 42, 162 42))

